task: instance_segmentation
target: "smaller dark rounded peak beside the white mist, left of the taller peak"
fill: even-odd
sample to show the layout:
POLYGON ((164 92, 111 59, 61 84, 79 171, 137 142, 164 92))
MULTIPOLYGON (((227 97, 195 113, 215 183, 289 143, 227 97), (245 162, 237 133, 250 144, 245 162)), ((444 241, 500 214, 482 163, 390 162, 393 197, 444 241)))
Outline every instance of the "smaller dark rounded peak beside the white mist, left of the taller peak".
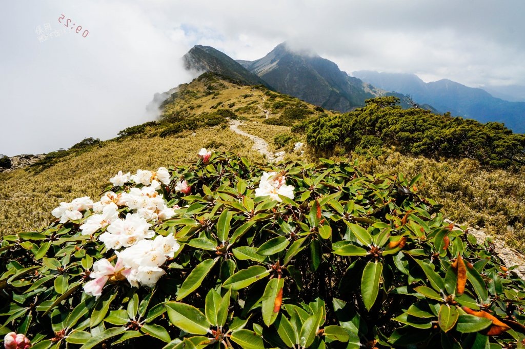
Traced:
POLYGON ((245 67, 237 63, 234 59, 210 47, 195 45, 184 56, 184 65, 188 70, 195 70, 199 73, 213 71, 233 79, 239 80, 246 85, 268 85, 257 75, 250 73, 245 67))

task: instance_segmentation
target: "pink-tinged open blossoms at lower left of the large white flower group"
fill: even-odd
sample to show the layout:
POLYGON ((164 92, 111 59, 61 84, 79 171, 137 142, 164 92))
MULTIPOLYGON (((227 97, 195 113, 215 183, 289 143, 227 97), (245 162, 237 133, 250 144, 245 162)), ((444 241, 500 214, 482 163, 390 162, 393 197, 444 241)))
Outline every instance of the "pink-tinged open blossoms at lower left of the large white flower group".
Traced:
POLYGON ((115 281, 124 280, 125 275, 129 275, 130 272, 129 269, 124 268, 124 264, 120 259, 117 260, 115 266, 105 258, 98 260, 93 263, 93 271, 89 274, 89 277, 94 280, 84 284, 84 292, 89 295, 99 296, 102 294, 102 288, 110 278, 115 281))

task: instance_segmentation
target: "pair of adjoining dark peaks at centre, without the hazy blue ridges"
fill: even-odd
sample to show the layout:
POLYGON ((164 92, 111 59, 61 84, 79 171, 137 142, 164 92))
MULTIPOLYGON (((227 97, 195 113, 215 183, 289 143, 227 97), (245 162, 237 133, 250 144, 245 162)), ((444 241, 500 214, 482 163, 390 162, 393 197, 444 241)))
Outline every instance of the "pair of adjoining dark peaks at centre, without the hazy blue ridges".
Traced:
POLYGON ((349 76, 328 59, 292 52, 286 43, 254 61, 234 61, 213 47, 198 45, 184 61, 188 69, 213 71, 246 84, 263 84, 328 110, 349 111, 364 106, 365 99, 385 93, 349 76))

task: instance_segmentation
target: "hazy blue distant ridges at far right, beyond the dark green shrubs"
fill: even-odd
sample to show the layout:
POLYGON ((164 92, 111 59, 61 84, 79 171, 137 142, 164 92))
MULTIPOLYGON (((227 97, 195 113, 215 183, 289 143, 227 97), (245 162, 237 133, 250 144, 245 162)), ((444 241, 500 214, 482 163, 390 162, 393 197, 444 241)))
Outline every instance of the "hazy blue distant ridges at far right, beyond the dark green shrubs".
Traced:
POLYGON ((418 103, 428 103, 441 112, 476 119, 502 122, 517 133, 525 133, 525 102, 495 98, 480 88, 467 87, 442 79, 424 83, 414 74, 354 71, 354 76, 389 91, 410 95, 418 103))

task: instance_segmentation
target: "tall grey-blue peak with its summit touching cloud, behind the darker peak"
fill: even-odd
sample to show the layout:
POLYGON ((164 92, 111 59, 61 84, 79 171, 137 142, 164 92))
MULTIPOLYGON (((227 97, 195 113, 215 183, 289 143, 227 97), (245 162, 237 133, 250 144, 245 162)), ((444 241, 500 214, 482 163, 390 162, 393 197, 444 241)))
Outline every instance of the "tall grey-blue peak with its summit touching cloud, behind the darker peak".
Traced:
POLYGON ((325 109, 349 111, 384 92, 348 76, 328 59, 293 52, 286 43, 249 65, 247 61, 241 63, 279 92, 325 109))

